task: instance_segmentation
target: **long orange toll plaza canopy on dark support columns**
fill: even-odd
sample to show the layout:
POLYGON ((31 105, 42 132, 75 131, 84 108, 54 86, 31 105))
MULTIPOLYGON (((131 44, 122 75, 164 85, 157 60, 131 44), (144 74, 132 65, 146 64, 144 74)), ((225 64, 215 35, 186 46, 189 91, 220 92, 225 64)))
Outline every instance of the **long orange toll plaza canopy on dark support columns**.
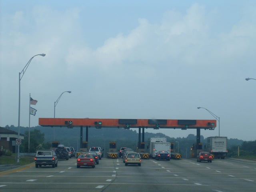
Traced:
POLYGON ((200 130, 214 130, 216 120, 177 120, 177 119, 98 119, 98 118, 39 118, 43 127, 80 128, 80 147, 88 142, 89 128, 138 128, 138 144, 145 142, 145 128, 153 129, 196 129, 196 148, 200 148, 200 130), (86 139, 83 131, 86 129, 86 139), (83 143, 84 142, 84 143, 83 143))

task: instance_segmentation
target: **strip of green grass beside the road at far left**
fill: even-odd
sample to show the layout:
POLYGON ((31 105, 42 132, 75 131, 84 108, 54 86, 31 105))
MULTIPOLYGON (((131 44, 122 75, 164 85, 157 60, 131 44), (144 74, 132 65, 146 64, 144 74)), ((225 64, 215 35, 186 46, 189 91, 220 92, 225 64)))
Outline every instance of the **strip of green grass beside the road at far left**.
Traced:
MULTIPOLYGON (((26 165, 34 162, 33 156, 20 156, 20 165, 26 165)), ((0 164, 17 164, 15 154, 12 156, 0 156, 0 164)))

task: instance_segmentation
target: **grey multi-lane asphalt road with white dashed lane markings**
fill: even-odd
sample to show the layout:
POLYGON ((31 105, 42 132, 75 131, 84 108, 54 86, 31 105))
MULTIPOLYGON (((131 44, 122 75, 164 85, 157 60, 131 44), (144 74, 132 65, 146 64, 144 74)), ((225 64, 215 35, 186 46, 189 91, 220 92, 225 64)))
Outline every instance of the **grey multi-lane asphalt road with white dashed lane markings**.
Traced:
POLYGON ((95 168, 76 168, 76 158, 58 167, 30 166, 0 172, 4 192, 255 192, 256 163, 194 158, 142 160, 125 166, 122 159, 102 158, 95 168))

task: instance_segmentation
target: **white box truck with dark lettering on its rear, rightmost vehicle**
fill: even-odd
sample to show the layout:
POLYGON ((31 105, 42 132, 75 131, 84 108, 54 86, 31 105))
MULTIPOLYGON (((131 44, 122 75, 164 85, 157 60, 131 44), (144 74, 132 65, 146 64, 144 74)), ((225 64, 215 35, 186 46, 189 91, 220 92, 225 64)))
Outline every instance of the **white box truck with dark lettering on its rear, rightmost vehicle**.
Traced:
POLYGON ((218 137, 218 136, 208 137, 206 150, 211 154, 213 154, 214 158, 224 159, 228 152, 227 143, 228 143, 227 137, 218 137))

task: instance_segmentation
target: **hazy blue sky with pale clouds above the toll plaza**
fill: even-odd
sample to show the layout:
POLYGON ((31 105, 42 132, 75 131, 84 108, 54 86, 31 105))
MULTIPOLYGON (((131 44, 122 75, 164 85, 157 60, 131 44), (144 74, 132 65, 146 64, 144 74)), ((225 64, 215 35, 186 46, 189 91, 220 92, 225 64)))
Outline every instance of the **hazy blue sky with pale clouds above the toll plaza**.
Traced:
POLYGON ((220 126, 220 136, 256 140, 256 80, 245 80, 256 79, 255 10, 254 0, 0 0, 0 126, 18 126, 20 82, 24 127, 53 118, 64 92, 56 118, 216 119, 212 112, 220 121, 202 136, 220 126), (29 121, 30 95, 38 103, 29 121))

